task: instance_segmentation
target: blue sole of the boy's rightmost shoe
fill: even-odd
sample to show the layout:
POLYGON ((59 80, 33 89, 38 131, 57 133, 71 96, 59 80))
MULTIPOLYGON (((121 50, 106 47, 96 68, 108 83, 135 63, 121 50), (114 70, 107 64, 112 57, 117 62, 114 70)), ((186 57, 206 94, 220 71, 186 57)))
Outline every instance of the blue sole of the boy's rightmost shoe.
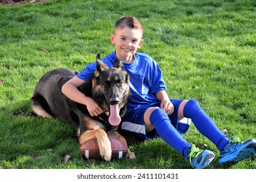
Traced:
POLYGON ((256 140, 249 139, 233 153, 221 157, 219 163, 236 163, 254 156, 256 153, 256 140))

